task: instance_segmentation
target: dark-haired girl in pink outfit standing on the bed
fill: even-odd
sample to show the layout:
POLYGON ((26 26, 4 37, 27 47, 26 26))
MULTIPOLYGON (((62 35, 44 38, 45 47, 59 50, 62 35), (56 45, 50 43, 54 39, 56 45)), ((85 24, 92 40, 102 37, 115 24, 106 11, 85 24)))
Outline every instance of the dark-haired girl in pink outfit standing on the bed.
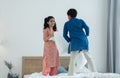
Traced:
POLYGON ((54 32, 57 31, 56 22, 53 16, 44 19, 44 54, 43 54, 43 75, 56 75, 59 66, 59 53, 54 41, 54 32))

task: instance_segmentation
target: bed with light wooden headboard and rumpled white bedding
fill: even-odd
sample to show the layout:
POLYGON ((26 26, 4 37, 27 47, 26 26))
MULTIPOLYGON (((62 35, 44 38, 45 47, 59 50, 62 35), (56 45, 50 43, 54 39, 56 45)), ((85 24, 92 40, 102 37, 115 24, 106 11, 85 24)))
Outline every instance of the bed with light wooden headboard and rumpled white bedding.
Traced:
MULTIPOLYGON (((60 65, 68 68, 69 56, 60 56, 60 65)), ((23 56, 22 57, 22 78, 120 78, 120 74, 115 73, 79 73, 73 76, 67 76, 67 73, 61 73, 56 76, 43 76, 42 56, 23 56)))

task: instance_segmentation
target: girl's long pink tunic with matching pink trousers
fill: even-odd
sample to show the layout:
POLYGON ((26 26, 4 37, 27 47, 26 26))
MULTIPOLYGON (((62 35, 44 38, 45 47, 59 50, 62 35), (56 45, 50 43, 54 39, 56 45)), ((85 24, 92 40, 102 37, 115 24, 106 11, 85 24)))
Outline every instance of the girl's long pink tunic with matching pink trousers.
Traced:
POLYGON ((47 75, 49 73, 55 75, 57 72, 57 67, 59 66, 58 49, 55 44, 55 41, 48 39, 48 36, 50 34, 54 34, 54 31, 50 31, 49 28, 44 29, 43 31, 44 54, 43 54, 43 70, 42 70, 42 73, 44 75, 47 75))

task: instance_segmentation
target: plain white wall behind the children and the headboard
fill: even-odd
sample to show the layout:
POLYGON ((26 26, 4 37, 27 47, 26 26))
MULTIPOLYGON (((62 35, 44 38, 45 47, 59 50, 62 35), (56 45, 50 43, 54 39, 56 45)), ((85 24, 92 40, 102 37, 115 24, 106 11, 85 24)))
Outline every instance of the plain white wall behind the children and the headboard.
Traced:
POLYGON ((43 20, 52 15, 62 32, 66 12, 76 8, 78 17, 90 27, 90 53, 99 72, 106 72, 107 0, 0 0, 0 78, 7 78, 3 60, 14 64, 13 71, 21 74, 22 56, 42 56, 43 20))

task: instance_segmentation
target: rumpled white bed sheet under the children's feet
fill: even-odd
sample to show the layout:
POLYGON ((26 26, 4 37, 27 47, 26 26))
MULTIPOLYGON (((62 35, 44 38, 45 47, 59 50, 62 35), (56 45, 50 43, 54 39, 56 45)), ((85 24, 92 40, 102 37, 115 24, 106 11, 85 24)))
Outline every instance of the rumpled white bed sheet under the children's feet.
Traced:
POLYGON ((24 78, 120 78, 120 74, 115 73, 80 73, 74 76, 67 76, 67 73, 61 73, 56 76, 43 76, 41 73, 24 75, 24 78))

